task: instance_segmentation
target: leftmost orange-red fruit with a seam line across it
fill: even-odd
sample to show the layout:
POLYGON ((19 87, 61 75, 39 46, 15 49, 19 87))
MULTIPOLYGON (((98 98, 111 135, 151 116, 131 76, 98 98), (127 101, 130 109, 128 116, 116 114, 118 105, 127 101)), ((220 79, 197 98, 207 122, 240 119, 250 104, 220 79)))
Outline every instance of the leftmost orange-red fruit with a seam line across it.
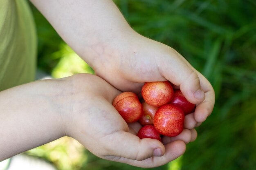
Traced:
POLYGON ((112 104, 127 123, 138 121, 143 114, 143 108, 135 93, 124 92, 113 100, 112 104))

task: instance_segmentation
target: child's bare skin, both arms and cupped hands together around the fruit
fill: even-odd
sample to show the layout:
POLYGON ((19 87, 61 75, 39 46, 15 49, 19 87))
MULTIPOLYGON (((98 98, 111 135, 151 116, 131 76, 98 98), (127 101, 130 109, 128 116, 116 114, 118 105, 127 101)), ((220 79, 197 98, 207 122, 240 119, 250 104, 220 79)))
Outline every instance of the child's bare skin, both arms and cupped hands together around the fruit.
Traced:
POLYGON ((136 33, 111 0, 31 2, 95 73, 116 89, 99 77, 76 75, 1 92, 0 160, 63 135, 101 158, 139 167, 160 166, 182 155, 185 143, 196 138, 193 128, 213 109, 214 91, 207 79, 171 47, 136 33), (145 82, 166 80, 197 105, 195 113, 185 118, 188 129, 166 138, 166 145, 153 139, 139 140, 132 134, 139 124, 128 128, 111 105, 112 95, 120 91, 138 94, 145 82), (40 106, 42 103, 45 105, 40 106), (20 121, 25 118, 27 121, 20 121))

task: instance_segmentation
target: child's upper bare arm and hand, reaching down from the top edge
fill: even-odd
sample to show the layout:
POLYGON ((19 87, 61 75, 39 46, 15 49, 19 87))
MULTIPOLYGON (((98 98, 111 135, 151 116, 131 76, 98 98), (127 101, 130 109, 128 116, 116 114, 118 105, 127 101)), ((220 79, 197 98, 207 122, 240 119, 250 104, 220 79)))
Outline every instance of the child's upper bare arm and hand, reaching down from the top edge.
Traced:
POLYGON ((136 33, 112 0, 31 0, 95 73, 121 91, 168 79, 198 104, 186 116, 193 128, 212 112, 214 91, 177 51, 136 33))

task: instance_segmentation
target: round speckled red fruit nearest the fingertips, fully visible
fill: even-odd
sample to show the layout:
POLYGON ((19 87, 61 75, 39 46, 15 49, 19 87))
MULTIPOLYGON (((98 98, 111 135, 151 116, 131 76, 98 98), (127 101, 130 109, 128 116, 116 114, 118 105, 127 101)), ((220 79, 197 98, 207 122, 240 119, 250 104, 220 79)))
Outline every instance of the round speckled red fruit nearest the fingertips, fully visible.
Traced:
POLYGON ((155 113, 155 129, 164 136, 177 136, 184 128, 184 117, 182 109, 177 106, 172 104, 161 106, 155 113))

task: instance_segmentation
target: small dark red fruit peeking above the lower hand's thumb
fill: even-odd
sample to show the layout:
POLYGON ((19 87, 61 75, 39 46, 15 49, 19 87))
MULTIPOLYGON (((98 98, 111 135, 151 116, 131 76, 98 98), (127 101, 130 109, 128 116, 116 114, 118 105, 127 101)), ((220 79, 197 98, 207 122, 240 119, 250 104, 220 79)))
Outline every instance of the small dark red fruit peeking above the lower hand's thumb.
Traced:
POLYGON ((138 131, 137 136, 139 137, 139 139, 151 138, 151 139, 157 139, 159 141, 162 141, 160 134, 157 132, 157 130, 153 125, 143 126, 138 131))

